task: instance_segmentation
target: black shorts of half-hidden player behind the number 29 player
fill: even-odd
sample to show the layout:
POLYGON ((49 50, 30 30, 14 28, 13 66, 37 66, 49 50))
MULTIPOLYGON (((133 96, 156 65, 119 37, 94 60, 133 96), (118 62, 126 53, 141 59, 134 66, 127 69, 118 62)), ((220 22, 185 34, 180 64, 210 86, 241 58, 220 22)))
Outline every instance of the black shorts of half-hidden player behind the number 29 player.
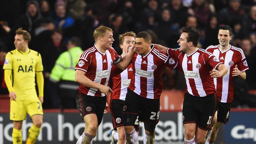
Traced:
MULTIPOLYGON (((114 130, 117 130, 117 127, 124 126, 124 117, 123 117, 123 107, 124 101, 120 99, 110 99, 110 112, 112 116, 112 124, 114 130)), ((139 121, 136 120, 134 128, 136 131, 139 131, 139 121)))

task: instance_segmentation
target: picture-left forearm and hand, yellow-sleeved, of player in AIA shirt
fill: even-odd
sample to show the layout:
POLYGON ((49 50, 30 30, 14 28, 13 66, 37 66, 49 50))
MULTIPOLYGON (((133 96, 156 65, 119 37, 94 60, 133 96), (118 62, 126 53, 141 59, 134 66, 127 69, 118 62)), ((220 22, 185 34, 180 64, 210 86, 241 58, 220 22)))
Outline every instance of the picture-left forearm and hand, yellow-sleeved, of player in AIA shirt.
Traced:
POLYGON ((15 94, 14 89, 12 87, 11 75, 12 75, 12 70, 10 70, 10 69, 5 69, 4 70, 4 81, 5 81, 5 84, 8 88, 8 91, 9 91, 9 97, 12 100, 16 101, 16 94, 15 94))

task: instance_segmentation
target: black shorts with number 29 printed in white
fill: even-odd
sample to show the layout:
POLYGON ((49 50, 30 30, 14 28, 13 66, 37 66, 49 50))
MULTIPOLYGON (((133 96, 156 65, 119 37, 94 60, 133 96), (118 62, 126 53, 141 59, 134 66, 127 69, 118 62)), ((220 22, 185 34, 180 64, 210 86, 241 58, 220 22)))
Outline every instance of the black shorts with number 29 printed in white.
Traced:
POLYGON ((160 99, 148 99, 139 96, 128 89, 123 114, 125 126, 133 126, 137 115, 138 120, 150 125, 156 125, 159 122, 160 99))

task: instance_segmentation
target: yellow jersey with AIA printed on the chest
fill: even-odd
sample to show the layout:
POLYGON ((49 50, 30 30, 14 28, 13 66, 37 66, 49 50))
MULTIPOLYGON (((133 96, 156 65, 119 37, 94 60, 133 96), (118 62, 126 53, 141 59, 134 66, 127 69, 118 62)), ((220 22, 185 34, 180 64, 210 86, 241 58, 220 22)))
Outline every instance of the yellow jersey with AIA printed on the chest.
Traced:
POLYGON ((12 70, 12 86, 16 100, 37 98, 35 72, 42 72, 42 58, 37 51, 28 49, 21 52, 17 49, 6 54, 3 69, 12 70))

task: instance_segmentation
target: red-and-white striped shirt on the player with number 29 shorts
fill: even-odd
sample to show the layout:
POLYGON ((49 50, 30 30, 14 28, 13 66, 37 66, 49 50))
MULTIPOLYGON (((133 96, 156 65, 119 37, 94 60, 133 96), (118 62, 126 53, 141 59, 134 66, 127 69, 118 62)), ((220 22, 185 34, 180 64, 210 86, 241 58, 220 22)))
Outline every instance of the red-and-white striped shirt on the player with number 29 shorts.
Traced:
POLYGON ((132 64, 133 77, 129 89, 142 97, 158 99, 162 93, 163 67, 175 68, 177 60, 169 58, 167 53, 160 52, 154 45, 151 45, 151 50, 147 55, 135 53, 132 64))

